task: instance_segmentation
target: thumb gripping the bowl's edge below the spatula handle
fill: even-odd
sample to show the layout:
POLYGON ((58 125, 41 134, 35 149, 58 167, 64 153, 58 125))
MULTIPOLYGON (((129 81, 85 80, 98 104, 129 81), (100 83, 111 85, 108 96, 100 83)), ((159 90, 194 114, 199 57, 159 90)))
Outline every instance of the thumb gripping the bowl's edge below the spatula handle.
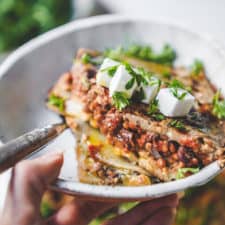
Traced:
POLYGON ((11 213, 39 212, 42 195, 47 185, 59 175, 63 163, 62 153, 48 154, 34 160, 24 160, 13 169, 6 208, 11 213), (22 207, 21 207, 22 206, 22 207), (23 212, 21 212, 24 210, 23 212))

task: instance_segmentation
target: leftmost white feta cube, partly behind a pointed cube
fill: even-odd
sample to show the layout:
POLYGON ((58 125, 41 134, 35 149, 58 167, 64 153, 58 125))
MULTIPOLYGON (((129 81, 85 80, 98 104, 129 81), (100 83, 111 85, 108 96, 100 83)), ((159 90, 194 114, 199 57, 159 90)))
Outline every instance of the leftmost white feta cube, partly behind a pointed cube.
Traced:
POLYGON ((107 68, 118 66, 120 63, 110 58, 105 58, 96 75, 98 85, 109 88, 112 76, 108 73, 107 68))

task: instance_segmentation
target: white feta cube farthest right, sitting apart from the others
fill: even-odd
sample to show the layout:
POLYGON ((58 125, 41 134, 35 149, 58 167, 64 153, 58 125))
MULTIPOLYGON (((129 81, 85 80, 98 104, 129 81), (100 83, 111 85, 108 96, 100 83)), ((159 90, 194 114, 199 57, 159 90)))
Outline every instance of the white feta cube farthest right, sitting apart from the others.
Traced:
POLYGON ((159 91, 157 99, 160 112, 168 117, 181 117, 187 115, 194 105, 195 98, 186 90, 178 88, 178 96, 186 93, 183 98, 179 99, 174 96, 173 91, 172 88, 162 88, 159 91))

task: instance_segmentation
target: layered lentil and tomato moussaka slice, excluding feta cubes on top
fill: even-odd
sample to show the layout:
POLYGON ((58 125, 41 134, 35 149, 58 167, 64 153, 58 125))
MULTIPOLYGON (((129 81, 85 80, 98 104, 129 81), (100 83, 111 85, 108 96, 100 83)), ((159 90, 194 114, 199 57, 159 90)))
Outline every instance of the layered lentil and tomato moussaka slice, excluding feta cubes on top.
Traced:
MULTIPOLYGON (((160 91, 181 82, 191 90, 195 103, 188 114, 171 117, 155 109, 156 97, 157 101, 151 100, 149 104, 140 101, 141 88, 129 99, 120 96, 120 102, 118 98, 116 102, 115 95, 110 93, 111 87, 96 82, 97 73, 105 72, 97 65, 101 57, 96 51, 79 50, 71 72, 64 74, 49 94, 48 106, 65 116, 74 133, 80 129, 80 121, 87 128, 85 133, 82 128, 77 147, 81 181, 110 185, 170 181, 224 157, 225 122, 213 114, 216 90, 203 70, 194 76, 184 68, 146 64, 130 56, 120 59, 130 63, 129 67, 125 64, 126 68, 139 63, 145 70, 156 73, 160 67, 156 73, 160 91), (169 68, 170 74, 163 75, 162 68, 169 68), (59 103, 51 104, 53 97, 63 99, 61 108, 59 103)), ((117 64, 110 67, 111 72, 118 71, 117 64)), ((129 80, 129 86, 134 79, 136 77, 129 80)))

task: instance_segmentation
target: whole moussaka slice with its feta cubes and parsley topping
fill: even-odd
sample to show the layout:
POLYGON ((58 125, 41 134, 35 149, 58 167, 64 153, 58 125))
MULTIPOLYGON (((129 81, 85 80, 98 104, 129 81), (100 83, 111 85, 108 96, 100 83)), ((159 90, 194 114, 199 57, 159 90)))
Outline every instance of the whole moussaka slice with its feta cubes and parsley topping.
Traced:
POLYGON ((47 105, 78 139, 81 182, 149 185, 223 166, 225 101, 201 61, 175 58, 169 45, 78 50, 47 105))

